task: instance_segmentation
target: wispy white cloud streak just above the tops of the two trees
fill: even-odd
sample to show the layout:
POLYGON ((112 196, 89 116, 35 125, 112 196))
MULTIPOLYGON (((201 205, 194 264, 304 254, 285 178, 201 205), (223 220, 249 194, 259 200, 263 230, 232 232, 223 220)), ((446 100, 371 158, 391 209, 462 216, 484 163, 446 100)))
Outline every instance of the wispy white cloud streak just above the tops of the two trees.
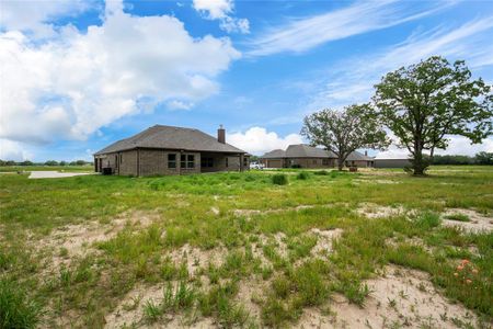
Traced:
POLYGON ((319 90, 307 107, 339 107, 369 101, 374 84, 389 71, 419 63, 433 55, 449 60, 466 59, 471 69, 493 65, 493 18, 475 20, 456 27, 442 26, 415 33, 403 43, 367 56, 351 57, 334 64, 318 82, 319 90))

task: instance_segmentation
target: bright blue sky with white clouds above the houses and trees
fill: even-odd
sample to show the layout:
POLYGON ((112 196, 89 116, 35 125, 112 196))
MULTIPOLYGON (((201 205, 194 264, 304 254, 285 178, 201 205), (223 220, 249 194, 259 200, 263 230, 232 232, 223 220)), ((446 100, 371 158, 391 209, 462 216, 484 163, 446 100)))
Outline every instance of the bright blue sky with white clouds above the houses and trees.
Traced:
MULTIPOLYGON (((91 160, 156 124, 222 124, 262 155, 432 55, 493 84, 492 54, 493 0, 0 0, 0 159, 91 160)), ((442 154, 493 151, 449 139, 442 154)))

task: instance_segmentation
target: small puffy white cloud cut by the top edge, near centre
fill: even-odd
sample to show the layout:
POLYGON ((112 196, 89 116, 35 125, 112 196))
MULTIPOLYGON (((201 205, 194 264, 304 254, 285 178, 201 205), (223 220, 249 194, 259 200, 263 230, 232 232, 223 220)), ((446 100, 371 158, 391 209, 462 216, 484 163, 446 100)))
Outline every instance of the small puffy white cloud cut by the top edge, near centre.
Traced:
POLYGON ((249 20, 231 16, 234 10, 232 0, 194 0, 193 8, 207 20, 219 20, 219 27, 228 33, 250 33, 249 20))

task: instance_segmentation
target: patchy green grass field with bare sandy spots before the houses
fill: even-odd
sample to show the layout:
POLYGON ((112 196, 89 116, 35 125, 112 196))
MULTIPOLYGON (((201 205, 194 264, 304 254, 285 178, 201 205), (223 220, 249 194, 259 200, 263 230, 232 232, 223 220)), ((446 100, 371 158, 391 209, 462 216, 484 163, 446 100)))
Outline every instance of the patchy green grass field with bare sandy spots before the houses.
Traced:
POLYGON ((0 174, 0 328, 491 328, 493 167, 428 173, 0 174))

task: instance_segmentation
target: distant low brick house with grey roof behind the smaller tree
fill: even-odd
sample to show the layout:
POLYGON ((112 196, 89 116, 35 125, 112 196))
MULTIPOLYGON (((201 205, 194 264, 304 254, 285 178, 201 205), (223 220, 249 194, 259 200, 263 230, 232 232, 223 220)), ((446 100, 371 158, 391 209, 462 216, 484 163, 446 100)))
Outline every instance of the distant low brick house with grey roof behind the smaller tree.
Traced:
MULTIPOLYGON (((337 166, 337 156, 318 147, 305 144, 289 145, 286 150, 275 149, 260 157, 266 168, 334 168, 337 166)), ((352 152, 345 164, 356 167, 372 167, 374 158, 352 152)))

